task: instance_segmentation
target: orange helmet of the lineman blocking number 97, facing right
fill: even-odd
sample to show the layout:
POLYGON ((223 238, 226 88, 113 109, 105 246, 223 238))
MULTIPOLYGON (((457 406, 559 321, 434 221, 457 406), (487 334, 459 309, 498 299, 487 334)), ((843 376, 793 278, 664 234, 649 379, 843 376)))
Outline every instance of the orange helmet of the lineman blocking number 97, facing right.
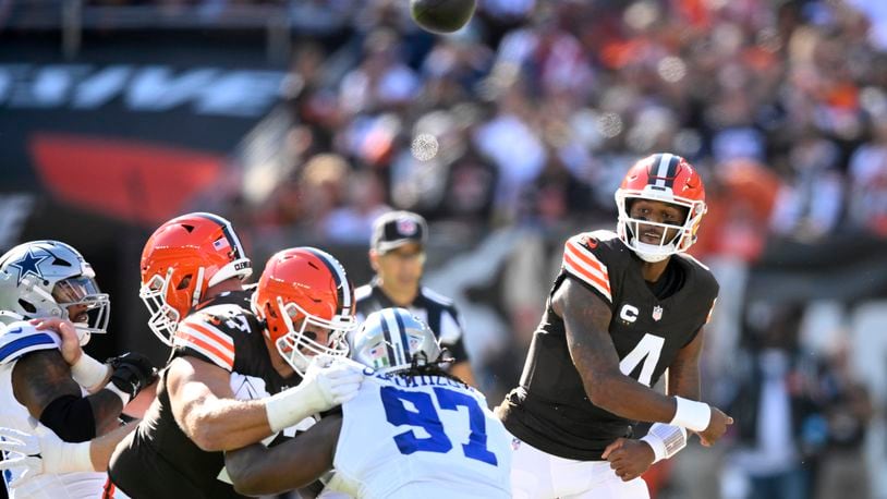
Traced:
POLYGON ((271 256, 253 294, 253 312, 266 321, 265 336, 300 375, 315 355, 347 355, 344 334, 356 327, 354 288, 344 268, 314 247, 271 256), (318 338, 318 327, 328 331, 326 340, 318 338))

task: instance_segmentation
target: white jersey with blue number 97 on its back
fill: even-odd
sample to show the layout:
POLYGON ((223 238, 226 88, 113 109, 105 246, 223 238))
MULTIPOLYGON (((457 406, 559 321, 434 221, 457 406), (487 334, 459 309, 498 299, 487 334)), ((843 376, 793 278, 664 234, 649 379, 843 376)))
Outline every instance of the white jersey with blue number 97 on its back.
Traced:
POLYGON ((479 392, 439 375, 374 375, 342 405, 331 487, 357 498, 510 498, 511 436, 479 392))

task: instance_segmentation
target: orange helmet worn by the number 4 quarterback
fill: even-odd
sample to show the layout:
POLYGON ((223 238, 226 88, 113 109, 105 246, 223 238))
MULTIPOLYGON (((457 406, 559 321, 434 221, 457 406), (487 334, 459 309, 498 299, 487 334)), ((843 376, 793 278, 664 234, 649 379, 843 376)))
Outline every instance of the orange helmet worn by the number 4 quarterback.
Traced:
POLYGON ((647 156, 629 169, 616 191, 616 206, 619 209, 619 239, 642 259, 653 263, 689 249, 696 242, 696 231, 707 210, 705 186, 700 174, 685 159, 668 153, 647 156), (666 240, 668 231, 663 231, 663 240, 658 245, 640 241, 636 236, 640 224, 659 226, 664 229, 675 229, 676 226, 631 218, 630 200, 639 198, 686 208, 686 219, 683 226, 677 227, 678 234, 666 240))

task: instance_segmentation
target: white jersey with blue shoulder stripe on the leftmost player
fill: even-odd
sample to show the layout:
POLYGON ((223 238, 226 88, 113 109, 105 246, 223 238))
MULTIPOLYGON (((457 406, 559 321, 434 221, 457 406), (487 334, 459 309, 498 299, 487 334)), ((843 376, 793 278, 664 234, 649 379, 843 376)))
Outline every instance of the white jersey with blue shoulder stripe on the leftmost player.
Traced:
MULTIPOLYGON (((0 326, 0 426, 34 434, 28 423, 27 409, 12 393, 12 369, 19 358, 37 350, 58 349, 61 340, 51 331, 38 331, 26 321, 0 326)), ((1 438, 1 437, 0 437, 1 438)), ((7 470, 3 479, 9 484, 23 470, 7 470)), ((10 499, 82 499, 100 498, 108 482, 105 473, 64 473, 41 475, 21 487, 10 490, 10 499)), ((7 485, 9 488, 9 485, 7 485)), ((120 492, 109 497, 121 497, 120 492)))

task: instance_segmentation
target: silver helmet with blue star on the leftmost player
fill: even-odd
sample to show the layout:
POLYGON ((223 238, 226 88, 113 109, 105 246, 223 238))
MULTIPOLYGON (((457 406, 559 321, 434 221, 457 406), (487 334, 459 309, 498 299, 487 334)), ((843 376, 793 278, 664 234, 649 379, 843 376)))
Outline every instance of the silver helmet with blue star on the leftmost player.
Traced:
POLYGON ((84 345, 107 332, 110 307, 93 267, 68 244, 34 241, 0 257, 0 320, 70 319, 84 345))

